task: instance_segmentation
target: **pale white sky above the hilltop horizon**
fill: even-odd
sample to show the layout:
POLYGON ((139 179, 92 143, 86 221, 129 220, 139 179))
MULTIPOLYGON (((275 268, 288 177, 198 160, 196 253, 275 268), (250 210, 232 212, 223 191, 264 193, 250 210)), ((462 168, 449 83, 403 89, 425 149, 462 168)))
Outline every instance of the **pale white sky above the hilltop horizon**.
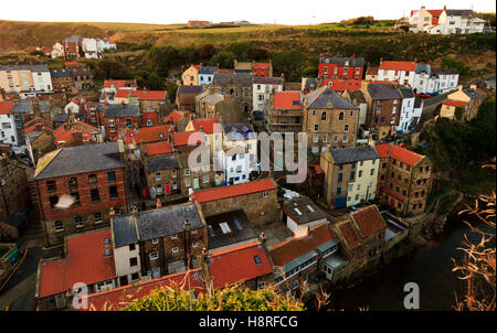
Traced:
POLYGON ((213 23, 242 21, 276 24, 317 24, 372 15, 399 19, 413 9, 473 9, 495 12, 495 0, 61 0, 3 1, 0 20, 50 22, 213 23), (350 6, 348 4, 350 3, 350 6), (74 7, 73 7, 74 6, 74 7))

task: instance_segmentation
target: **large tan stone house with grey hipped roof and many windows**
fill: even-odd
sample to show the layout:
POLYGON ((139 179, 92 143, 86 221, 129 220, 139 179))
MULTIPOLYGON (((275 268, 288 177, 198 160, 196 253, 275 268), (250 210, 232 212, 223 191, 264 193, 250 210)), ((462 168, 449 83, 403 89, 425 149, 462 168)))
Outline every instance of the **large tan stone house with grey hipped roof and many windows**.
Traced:
POLYGON ((326 144, 332 148, 355 147, 359 108, 328 87, 304 96, 302 131, 307 132, 308 151, 321 152, 326 144))

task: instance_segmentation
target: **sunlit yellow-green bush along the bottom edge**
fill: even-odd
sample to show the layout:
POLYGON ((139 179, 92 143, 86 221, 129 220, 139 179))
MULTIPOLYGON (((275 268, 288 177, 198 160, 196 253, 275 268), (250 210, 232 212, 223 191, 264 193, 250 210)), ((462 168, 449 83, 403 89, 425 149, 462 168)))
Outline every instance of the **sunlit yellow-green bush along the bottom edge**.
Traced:
MULTIPOLYGON (((110 310, 110 309, 105 309, 110 310)), ((176 287, 159 287, 150 294, 130 299, 124 311, 303 311, 302 302, 282 296, 274 287, 256 291, 226 287, 213 294, 200 293, 197 299, 191 292, 176 287)))

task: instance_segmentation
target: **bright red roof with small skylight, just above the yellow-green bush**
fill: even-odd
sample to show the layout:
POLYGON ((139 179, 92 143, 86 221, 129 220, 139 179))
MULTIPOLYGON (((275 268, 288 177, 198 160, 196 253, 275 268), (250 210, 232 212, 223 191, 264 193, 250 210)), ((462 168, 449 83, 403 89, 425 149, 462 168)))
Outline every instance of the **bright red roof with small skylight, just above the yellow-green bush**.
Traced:
POLYGON ((264 249, 257 243, 248 243, 213 253, 209 256, 209 271, 214 289, 221 289, 269 275, 273 269, 264 249), (255 262, 255 256, 261 259, 261 264, 255 262))

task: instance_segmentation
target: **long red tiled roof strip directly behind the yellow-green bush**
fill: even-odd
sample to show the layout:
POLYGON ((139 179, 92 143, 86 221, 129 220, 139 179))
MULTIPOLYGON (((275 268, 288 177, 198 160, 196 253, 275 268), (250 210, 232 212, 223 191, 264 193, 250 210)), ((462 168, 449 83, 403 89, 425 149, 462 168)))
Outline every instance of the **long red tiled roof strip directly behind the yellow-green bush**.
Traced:
MULTIPOLYGON (((177 287, 180 290, 193 290, 195 296, 205 292, 202 273, 200 269, 192 269, 175 275, 165 276, 161 278, 142 281, 135 284, 118 287, 109 291, 91 293, 82 300, 88 301, 88 308, 96 311, 102 311, 107 304, 112 311, 117 311, 130 302, 130 298, 144 298, 157 288, 177 287)), ((78 309, 80 311, 87 311, 89 309, 78 309)))

